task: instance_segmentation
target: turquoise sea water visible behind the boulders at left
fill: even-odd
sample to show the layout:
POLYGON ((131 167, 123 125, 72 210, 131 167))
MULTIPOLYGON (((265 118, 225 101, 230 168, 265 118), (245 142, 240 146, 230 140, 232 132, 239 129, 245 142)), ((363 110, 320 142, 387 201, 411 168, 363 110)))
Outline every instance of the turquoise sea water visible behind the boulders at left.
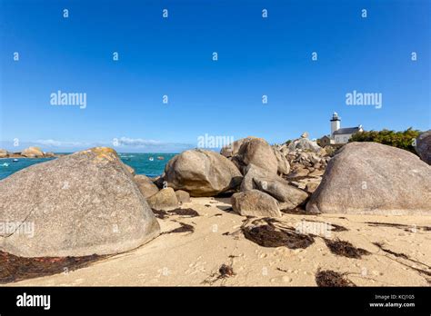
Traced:
MULTIPOLYGON (((67 153, 66 153, 67 154, 67 153)), ((137 174, 149 177, 160 175, 166 163, 177 153, 118 153, 123 163, 135 169, 137 174)), ((45 163, 56 158, 13 158, 0 159, 0 180, 35 163, 45 163)))

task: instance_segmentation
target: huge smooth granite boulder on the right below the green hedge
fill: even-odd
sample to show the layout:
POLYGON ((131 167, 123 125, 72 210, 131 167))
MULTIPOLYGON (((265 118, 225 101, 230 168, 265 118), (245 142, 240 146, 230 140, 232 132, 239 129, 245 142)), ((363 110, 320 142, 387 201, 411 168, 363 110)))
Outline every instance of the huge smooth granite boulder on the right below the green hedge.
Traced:
POLYGON ((431 167, 380 143, 347 143, 328 163, 308 212, 431 215, 431 167))

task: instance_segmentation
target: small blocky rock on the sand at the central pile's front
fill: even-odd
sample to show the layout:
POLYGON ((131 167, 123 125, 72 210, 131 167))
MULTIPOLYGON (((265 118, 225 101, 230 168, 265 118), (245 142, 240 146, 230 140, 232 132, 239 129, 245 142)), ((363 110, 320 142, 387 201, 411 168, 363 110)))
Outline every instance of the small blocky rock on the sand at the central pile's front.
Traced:
POLYGON ((235 193, 231 202, 233 210, 243 216, 281 216, 276 199, 257 190, 235 193))

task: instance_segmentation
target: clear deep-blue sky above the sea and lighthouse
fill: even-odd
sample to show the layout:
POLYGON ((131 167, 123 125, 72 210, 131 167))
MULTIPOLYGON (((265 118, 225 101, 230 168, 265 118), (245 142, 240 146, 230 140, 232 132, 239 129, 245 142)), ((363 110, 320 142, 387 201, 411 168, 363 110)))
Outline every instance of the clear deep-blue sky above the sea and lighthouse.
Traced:
POLYGON ((329 133, 334 111, 342 127, 431 125, 426 0, 0 3, 0 147, 9 150, 118 139, 120 152, 179 152, 205 133, 282 143, 329 133), (85 109, 50 104, 58 90, 85 93, 85 109), (346 105, 354 90, 382 94, 382 108, 346 105))

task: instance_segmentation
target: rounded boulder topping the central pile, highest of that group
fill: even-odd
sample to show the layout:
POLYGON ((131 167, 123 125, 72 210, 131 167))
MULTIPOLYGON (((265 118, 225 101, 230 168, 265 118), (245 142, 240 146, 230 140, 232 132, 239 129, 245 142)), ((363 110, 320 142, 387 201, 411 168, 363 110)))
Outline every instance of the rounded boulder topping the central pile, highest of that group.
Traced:
POLYGON ((272 147, 262 138, 249 138, 241 144, 238 153, 232 158, 241 172, 245 172, 250 163, 269 173, 277 173, 278 162, 272 147))

